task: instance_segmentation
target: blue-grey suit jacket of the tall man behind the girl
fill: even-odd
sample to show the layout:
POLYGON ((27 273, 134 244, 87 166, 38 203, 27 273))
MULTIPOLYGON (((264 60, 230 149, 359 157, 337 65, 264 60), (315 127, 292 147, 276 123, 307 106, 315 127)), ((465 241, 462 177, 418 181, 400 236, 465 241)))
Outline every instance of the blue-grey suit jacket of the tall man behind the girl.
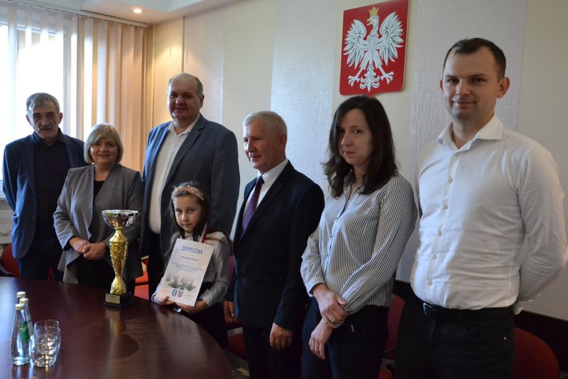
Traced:
POLYGON ((162 123, 150 131, 146 158, 142 173, 144 184, 143 220, 141 231, 141 256, 148 256, 148 275, 160 275, 164 270, 163 254, 168 251, 172 236, 177 233, 175 221, 170 215, 172 190, 175 185, 195 180, 204 185, 211 197, 211 217, 209 224, 214 229, 223 229, 230 233, 239 199, 239 157, 236 138, 229 129, 200 119, 182 143, 175 155, 172 168, 165 180, 161 194, 161 230, 160 251, 148 249, 151 246, 148 225, 148 209, 154 180, 155 162, 165 137, 168 135, 170 122, 162 123))

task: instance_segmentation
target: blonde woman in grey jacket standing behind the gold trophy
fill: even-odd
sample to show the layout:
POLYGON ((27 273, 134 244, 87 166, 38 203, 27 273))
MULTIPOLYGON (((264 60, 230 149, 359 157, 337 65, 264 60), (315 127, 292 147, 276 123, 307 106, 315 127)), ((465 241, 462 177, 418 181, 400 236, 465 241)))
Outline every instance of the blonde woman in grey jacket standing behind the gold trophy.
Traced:
MULTIPOLYGON (((55 232, 64 250, 59 263, 63 281, 109 290, 114 279, 109 240, 114 229, 102 219, 106 209, 141 212, 143 186, 138 171, 119 164, 124 155, 114 126, 99 123, 84 143, 84 159, 89 166, 69 170, 53 214, 55 232)), ((122 277, 130 291, 134 279, 142 275, 138 238, 140 214, 123 233, 129 239, 128 256, 122 277)))

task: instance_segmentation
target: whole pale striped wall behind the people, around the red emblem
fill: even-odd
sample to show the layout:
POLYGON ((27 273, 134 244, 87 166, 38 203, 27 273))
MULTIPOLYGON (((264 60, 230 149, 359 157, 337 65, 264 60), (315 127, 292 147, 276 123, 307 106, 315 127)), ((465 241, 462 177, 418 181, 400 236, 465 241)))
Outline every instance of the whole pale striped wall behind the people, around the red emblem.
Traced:
MULTIPOLYGON (((333 111, 345 99, 337 80, 343 11, 371 3, 241 0, 185 18, 185 28, 180 21, 158 26, 154 124, 161 116, 162 121, 169 117, 165 77, 181 67, 198 70, 209 84, 205 101, 211 108, 204 107, 204 116, 224 123, 240 141, 246 114, 278 111, 289 126, 288 157, 326 188, 320 163, 333 111), (185 40, 180 42, 182 35, 185 40), (180 43, 183 52, 177 53, 180 43), (197 65, 192 65, 194 60, 197 65)), ((495 40, 508 57, 513 86, 499 102, 498 114, 551 150, 568 190, 568 150, 563 145, 568 141, 563 114, 568 106, 567 16, 564 0, 410 1, 405 87, 378 97, 391 119, 403 175, 413 182, 417 150, 449 122, 438 88, 447 48, 460 38, 479 35, 495 40)), ((242 196, 255 172, 244 154, 239 159, 242 196)), ((566 200, 564 208, 568 216, 566 200)), ((402 279, 408 280, 415 243, 409 244, 400 266, 402 279)), ((568 319, 567 285, 568 273, 563 273, 529 309, 568 319)))

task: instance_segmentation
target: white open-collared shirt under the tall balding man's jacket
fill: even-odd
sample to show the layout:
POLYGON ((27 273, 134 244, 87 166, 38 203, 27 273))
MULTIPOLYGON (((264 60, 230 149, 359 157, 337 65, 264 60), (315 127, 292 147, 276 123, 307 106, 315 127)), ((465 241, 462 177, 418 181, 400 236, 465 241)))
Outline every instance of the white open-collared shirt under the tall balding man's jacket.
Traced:
MULTIPOLYGON (((175 158, 175 155, 178 154, 183 141, 185 141, 185 138, 187 138, 187 135, 190 131, 192 131, 193 126, 195 126, 197 121, 199 121, 200 117, 201 115, 197 116, 197 119, 190 123, 190 126, 188 126, 187 129, 182 131, 180 134, 175 133, 173 122, 171 122, 168 136, 165 137, 164 142, 160 146, 158 158, 155 160, 154 180, 152 182, 152 191, 150 195, 150 209, 148 210, 148 225, 150 226, 150 230, 155 234, 160 234, 160 228, 162 226, 160 202, 165 180, 168 178, 168 174, 172 168, 173 159, 175 158)), ((189 181, 191 178, 187 178, 187 180, 189 181)), ((168 190, 171 191, 173 188, 168 188, 168 190)))

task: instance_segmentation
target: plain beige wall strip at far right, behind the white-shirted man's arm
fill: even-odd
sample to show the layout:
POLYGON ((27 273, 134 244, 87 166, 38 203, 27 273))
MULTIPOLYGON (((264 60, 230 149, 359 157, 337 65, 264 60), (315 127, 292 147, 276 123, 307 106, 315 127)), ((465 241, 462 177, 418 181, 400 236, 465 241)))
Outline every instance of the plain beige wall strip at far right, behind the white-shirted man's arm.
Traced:
MULTIPOLYGON (((564 192, 568 192, 567 19, 568 1, 528 1, 518 116, 518 131, 552 153, 564 192)), ((564 217, 568 219, 566 197, 564 217)), ((528 310, 568 320, 567 290, 568 271, 564 271, 528 310)))

